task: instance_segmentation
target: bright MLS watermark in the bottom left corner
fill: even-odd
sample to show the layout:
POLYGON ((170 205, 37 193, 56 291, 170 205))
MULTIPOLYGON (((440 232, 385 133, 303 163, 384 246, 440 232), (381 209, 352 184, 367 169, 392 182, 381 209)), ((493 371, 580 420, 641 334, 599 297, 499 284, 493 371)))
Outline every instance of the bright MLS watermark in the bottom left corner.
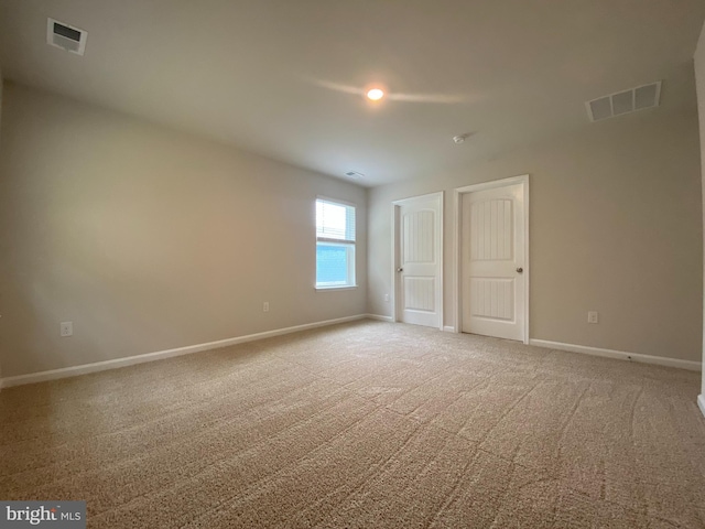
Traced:
POLYGON ((86 529, 86 503, 0 501, 0 527, 86 529))

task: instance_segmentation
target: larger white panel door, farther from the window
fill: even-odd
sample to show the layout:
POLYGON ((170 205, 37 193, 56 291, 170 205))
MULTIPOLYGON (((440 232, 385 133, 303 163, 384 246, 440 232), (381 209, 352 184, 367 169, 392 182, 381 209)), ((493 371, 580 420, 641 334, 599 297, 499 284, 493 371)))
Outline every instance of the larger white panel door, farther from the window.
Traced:
POLYGON ((462 196, 463 332, 523 341, 523 185, 462 196))

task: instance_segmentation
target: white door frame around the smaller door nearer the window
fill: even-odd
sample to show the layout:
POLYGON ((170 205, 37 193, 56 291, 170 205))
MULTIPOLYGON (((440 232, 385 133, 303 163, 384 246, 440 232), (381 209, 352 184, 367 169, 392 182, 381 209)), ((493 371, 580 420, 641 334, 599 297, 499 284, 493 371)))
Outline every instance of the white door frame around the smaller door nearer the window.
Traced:
POLYGON ((438 311, 438 328, 443 331, 443 323, 444 323, 443 321, 443 290, 444 290, 444 284, 443 284, 443 216, 444 216, 443 202, 444 201, 443 201, 443 197, 444 197, 444 192, 438 191, 436 193, 427 193, 425 195, 411 196, 409 198, 402 198, 402 199, 392 202, 392 269, 391 269, 392 307, 391 309, 392 309, 393 322, 400 322, 402 320, 400 317, 400 312, 402 307, 399 303, 397 303, 397 300, 399 299, 399 292, 401 289, 400 274, 397 273, 397 269, 399 268, 399 261, 400 261, 399 212, 401 210, 401 206, 403 205, 413 204, 414 202, 417 202, 417 201, 427 202, 430 199, 435 199, 438 202, 438 222, 436 223, 436 227, 435 227, 436 228, 435 229, 435 236, 436 236, 435 251, 436 251, 436 255, 438 256, 438 283, 436 285, 436 300, 437 300, 436 304, 437 304, 437 311, 438 311))

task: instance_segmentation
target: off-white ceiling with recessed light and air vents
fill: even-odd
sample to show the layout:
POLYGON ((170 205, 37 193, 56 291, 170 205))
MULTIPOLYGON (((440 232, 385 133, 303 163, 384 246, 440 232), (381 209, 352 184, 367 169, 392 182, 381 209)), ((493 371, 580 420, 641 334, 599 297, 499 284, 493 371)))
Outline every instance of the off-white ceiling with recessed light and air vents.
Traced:
POLYGON ((704 19, 703 0, 0 0, 0 65, 15 83, 379 185, 600 127, 586 100, 659 79, 661 107, 637 119, 694 112, 704 19), (84 57, 46 44, 47 17, 88 31, 84 57), (326 87, 373 82, 454 102, 372 106, 326 87))

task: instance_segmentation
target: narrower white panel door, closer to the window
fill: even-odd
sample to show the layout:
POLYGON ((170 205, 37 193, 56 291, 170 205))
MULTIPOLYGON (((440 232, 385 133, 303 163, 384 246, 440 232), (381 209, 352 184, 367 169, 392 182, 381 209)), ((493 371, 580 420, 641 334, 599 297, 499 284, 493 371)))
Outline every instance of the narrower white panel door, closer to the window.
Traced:
POLYGON ((438 195, 399 207, 398 312, 404 323, 441 326, 440 223, 438 195))

